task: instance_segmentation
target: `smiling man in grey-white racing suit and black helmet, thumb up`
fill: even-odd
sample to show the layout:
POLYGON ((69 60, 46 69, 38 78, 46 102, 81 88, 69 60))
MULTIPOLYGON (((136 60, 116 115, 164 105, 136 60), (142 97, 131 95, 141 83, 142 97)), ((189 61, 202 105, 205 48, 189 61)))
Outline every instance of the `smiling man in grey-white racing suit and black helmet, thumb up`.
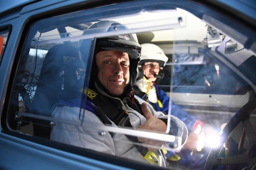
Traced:
MULTIPOLYGON (((100 21, 88 29, 96 30, 95 28, 100 28, 101 31, 105 29, 107 32, 126 27, 113 21, 100 21)), ((86 47, 81 41, 81 54, 84 48, 86 47)), ((166 166, 166 150, 163 148, 165 142, 128 136, 121 132, 99 133, 100 128, 97 128, 108 124, 112 127, 125 126, 166 132, 168 115, 155 111, 150 104, 135 96, 132 89, 137 77, 140 51, 141 46, 133 34, 97 39, 89 88, 75 87, 79 82, 84 82, 82 76, 79 76, 77 83, 72 83, 72 89, 77 89, 73 93, 82 94, 82 99, 60 100, 52 112, 54 118, 73 122, 81 122, 82 117, 83 124, 60 124, 52 129, 51 139, 114 156, 166 166)), ((78 74, 79 71, 76 71, 73 75, 76 77, 78 74)), ((68 77, 70 79, 72 73, 68 77)), ((170 131, 173 135, 182 137, 183 146, 187 138, 184 123, 171 116, 170 131)))

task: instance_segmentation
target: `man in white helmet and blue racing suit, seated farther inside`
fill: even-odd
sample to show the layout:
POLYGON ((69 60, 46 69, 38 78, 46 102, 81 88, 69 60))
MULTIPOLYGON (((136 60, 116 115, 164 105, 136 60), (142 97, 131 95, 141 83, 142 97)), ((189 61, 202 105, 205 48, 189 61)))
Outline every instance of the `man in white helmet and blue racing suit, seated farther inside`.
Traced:
MULTIPOLYGON (((168 57, 157 45, 145 43, 141 46, 140 75, 134 85, 135 94, 150 103, 156 111, 162 111, 167 114, 169 111, 169 96, 157 85, 156 80, 157 78, 163 78, 163 67, 168 57)), ((180 106, 175 105, 172 101, 171 109, 171 115, 182 120, 191 134, 185 147, 190 150, 201 151, 204 146, 201 145, 201 141, 198 142, 198 136, 203 130, 213 130, 212 127, 196 116, 183 111, 180 106)), ((177 161, 180 156, 169 152, 169 159, 177 161)), ((181 161, 183 160, 181 159, 181 161)))

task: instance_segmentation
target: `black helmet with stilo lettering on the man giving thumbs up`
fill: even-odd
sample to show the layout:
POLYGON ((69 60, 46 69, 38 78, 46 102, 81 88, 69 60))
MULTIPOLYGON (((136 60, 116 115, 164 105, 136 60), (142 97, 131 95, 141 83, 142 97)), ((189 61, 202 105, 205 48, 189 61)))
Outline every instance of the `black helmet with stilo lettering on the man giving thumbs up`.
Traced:
MULTIPOLYGON (((87 34, 95 34, 102 32, 118 31, 118 30, 127 30, 128 28, 120 23, 115 21, 99 21, 92 24, 87 29, 87 34)), ((81 40, 82 41, 82 40, 81 40)), ((80 51, 83 50, 83 42, 79 42, 80 51)), ((140 61, 141 46, 138 43, 136 34, 117 34, 116 36, 97 38, 94 54, 100 51, 122 51, 129 55, 130 60, 130 80, 129 84, 134 85, 137 77, 137 67, 140 61)), ((82 52, 81 52, 82 53, 82 52)), ((91 80, 94 77, 97 77, 98 69, 94 61, 92 66, 91 80)))

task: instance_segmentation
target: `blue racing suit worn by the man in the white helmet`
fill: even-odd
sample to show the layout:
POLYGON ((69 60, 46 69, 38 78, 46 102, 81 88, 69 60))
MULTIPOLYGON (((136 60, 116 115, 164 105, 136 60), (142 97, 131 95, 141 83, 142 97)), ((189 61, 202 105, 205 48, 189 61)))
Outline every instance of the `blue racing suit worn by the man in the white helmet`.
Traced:
MULTIPOLYGON (((157 84, 155 83, 149 84, 150 82, 147 82, 145 78, 143 79, 140 79, 135 83, 133 87, 135 94, 140 98, 144 99, 145 101, 149 102, 156 111, 162 111, 165 114, 167 114, 170 108, 171 115, 176 116, 181 121, 183 121, 190 132, 192 132, 195 129, 195 127, 197 127, 198 124, 204 125, 204 122, 198 119, 196 116, 189 114, 188 112, 184 111, 179 105, 175 105, 173 101, 170 101, 166 93, 157 84), (149 92, 149 89, 146 90, 146 88, 149 88, 149 86, 152 91, 155 89, 155 93, 157 94, 156 96, 157 100, 154 100, 154 102, 152 102, 152 99, 150 101, 148 97, 148 94, 152 92, 152 91, 149 92), (169 105, 171 106, 169 107, 169 105)), ((178 161, 180 164, 183 164, 185 166, 196 167, 201 169, 204 167, 206 157, 201 158, 200 155, 201 154, 199 153, 191 154, 191 150, 185 149, 185 150, 181 150, 180 153, 178 153, 178 155, 172 151, 168 151, 168 153, 166 154, 166 157, 169 159, 172 158, 170 160, 178 161), (195 161, 195 159, 197 161, 195 161)))

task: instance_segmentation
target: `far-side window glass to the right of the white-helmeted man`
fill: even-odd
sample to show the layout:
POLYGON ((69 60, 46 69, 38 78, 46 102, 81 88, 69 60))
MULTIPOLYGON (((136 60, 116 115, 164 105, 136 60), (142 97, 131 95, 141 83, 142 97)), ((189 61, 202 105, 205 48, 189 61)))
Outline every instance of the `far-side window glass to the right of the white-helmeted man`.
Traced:
MULTIPOLYGON (((167 62, 164 68, 169 78, 162 79, 160 82, 164 91, 170 91, 169 84, 172 78, 172 91, 176 93, 245 94, 245 91, 239 91, 239 89, 247 86, 248 83, 218 59, 212 57, 202 44, 198 46, 198 54, 189 52, 174 54, 173 59, 172 55, 169 55, 172 60, 167 62), (174 70, 171 76, 172 67, 174 70)), ((186 44, 183 46, 183 48, 188 47, 191 46, 186 44)))

